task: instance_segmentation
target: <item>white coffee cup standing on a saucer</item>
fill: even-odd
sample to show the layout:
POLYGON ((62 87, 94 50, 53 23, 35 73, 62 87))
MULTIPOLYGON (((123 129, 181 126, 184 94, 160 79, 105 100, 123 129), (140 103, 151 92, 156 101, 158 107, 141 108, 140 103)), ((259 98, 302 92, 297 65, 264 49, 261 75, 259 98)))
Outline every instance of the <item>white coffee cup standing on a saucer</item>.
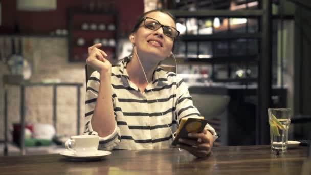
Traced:
POLYGON ((90 156, 96 154, 98 144, 99 137, 96 135, 77 135, 71 136, 66 141, 65 147, 77 156, 90 156))

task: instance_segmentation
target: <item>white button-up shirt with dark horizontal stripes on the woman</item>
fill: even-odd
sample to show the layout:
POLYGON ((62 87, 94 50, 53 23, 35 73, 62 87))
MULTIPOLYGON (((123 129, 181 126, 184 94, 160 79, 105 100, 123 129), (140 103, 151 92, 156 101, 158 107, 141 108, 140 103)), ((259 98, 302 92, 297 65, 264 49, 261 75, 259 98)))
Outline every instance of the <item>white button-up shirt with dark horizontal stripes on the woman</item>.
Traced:
MULTIPOLYGON (((200 116, 193 106, 184 80, 173 72, 158 67, 153 80, 143 93, 129 80, 125 58, 112 66, 112 100, 116 127, 112 134, 100 137, 99 149, 157 149, 169 148, 173 141, 172 132, 177 122, 184 117, 200 116), (171 129, 171 130, 170 130, 171 129)), ((92 129, 91 118, 100 84, 100 74, 95 71, 87 82, 85 101, 84 134, 98 135, 92 129)), ((209 124, 206 129, 217 138, 209 124)))

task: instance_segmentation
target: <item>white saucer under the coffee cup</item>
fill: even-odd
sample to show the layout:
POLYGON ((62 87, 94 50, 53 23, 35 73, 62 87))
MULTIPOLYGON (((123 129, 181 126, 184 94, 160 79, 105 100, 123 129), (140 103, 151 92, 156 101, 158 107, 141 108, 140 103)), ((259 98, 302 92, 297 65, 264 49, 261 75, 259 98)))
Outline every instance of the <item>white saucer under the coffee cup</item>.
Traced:
POLYGON ((78 161, 91 161, 91 160, 99 160, 107 155, 110 155, 111 152, 109 151, 101 151, 98 150, 94 153, 94 155, 87 155, 87 156, 77 156, 72 151, 65 150, 60 153, 60 155, 65 156, 71 160, 78 160, 78 161))

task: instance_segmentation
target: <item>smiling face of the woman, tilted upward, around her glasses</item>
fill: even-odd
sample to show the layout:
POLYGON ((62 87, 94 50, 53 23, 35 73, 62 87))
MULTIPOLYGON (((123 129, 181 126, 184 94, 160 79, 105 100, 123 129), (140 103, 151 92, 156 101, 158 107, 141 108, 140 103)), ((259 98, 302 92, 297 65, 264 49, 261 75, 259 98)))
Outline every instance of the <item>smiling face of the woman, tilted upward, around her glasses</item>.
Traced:
MULTIPOLYGON (((145 17, 158 20, 162 25, 176 28, 174 20, 162 12, 152 12, 145 17)), ((162 61, 168 57, 172 51, 174 39, 163 33, 162 27, 158 30, 151 30, 144 26, 144 21, 140 28, 130 36, 132 43, 136 46, 139 56, 151 57, 156 61, 162 61)))

